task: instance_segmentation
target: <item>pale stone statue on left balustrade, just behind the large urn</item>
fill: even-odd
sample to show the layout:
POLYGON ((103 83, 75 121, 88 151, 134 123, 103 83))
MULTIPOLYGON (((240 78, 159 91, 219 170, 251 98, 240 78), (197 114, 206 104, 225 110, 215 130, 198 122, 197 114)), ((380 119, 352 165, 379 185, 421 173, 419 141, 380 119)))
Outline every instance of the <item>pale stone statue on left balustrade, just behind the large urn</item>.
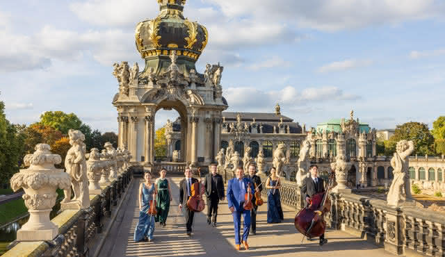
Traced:
POLYGON ((85 135, 81 131, 68 131, 71 148, 65 157, 65 169, 71 178, 74 198, 71 199, 71 190, 64 190, 65 199, 61 202, 61 209, 83 209, 90 207, 90 194, 88 193, 88 177, 86 166, 86 145, 83 143, 85 135))

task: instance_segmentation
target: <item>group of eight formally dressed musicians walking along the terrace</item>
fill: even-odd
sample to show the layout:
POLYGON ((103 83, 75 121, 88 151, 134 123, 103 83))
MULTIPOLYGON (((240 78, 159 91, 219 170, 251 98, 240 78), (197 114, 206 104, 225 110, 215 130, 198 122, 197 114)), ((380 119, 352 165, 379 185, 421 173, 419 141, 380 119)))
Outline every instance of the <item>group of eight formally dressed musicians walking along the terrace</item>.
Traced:
MULTIPOLYGON (((267 190, 267 223, 280 223, 284 219, 280 200, 280 176, 276 174, 275 167, 270 169, 270 176, 261 183, 261 179, 256 175, 256 166, 254 163, 248 165, 248 175, 242 166, 236 167, 234 179, 227 183, 227 192, 224 192, 223 177, 217 172, 216 163, 209 166, 210 172, 204 178, 204 183, 193 178, 191 169, 186 168, 184 179, 179 183, 179 211, 182 211, 186 219, 186 234, 192 235, 193 218, 195 212, 204 209, 204 200, 201 195, 205 194, 207 199, 207 224, 217 226, 218 205, 220 201, 227 198, 227 204, 234 220, 235 248, 248 250, 248 237, 252 233, 257 233, 257 210, 258 206, 263 204, 261 192, 264 188, 267 190), (243 219, 243 231, 241 231, 241 217, 243 219), (242 232, 242 234, 241 234, 242 232)), ((324 192, 324 181, 318 177, 318 167, 312 165, 308 175, 302 183, 302 196, 305 197, 306 207, 311 204, 312 197, 320 192, 324 192)), ((140 184, 138 190, 139 200, 139 221, 134 232, 136 242, 153 240, 154 224, 159 222, 165 226, 172 201, 172 193, 168 179, 165 179, 165 169, 161 169, 159 179, 152 183, 152 175, 149 172, 144 174, 144 182, 140 184)), ((315 219, 315 218, 314 218, 315 219)), ((314 221, 312 221, 314 222, 314 221)), ((296 225, 297 226, 297 225, 296 225)), ((307 232, 303 233, 309 238, 309 226, 307 232)), ((319 237, 319 244, 327 242, 323 234, 319 237)))

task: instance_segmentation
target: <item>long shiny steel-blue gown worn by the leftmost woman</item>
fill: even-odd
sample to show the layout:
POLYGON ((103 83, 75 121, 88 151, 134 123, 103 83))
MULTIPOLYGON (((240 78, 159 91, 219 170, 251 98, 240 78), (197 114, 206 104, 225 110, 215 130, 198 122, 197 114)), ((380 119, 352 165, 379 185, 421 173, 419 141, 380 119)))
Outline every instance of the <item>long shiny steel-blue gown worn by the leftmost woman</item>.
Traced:
POLYGON ((153 199, 154 183, 147 189, 145 184, 142 186, 142 210, 139 212, 139 222, 134 230, 134 240, 140 242, 147 237, 149 240, 153 239, 154 233, 154 216, 148 215, 150 208, 150 201, 153 199))

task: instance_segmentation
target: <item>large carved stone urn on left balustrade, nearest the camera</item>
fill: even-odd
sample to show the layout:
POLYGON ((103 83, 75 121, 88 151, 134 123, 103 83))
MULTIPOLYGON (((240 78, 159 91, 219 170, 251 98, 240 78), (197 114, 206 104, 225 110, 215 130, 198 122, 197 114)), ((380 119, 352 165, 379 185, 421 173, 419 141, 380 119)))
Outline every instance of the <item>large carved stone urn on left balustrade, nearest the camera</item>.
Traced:
POLYGON ((35 146, 34 154, 24 157, 28 169, 20 169, 10 179, 14 191, 24 189, 23 199, 29 211, 29 220, 17 231, 17 241, 53 240, 58 235, 58 226, 49 220, 49 213, 56 204, 57 188, 66 190, 71 186, 70 175, 56 169, 62 158, 51 154, 48 144, 35 146))

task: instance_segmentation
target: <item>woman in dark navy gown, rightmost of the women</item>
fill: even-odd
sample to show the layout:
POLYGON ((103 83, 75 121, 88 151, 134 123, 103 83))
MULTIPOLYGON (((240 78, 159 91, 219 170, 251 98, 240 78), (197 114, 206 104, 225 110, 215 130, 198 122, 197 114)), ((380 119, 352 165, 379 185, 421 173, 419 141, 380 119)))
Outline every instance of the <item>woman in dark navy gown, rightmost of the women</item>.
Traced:
POLYGON ((270 177, 266 180, 267 188, 267 223, 280 223, 284 219, 280 199, 280 177, 275 167, 270 169, 270 177))

